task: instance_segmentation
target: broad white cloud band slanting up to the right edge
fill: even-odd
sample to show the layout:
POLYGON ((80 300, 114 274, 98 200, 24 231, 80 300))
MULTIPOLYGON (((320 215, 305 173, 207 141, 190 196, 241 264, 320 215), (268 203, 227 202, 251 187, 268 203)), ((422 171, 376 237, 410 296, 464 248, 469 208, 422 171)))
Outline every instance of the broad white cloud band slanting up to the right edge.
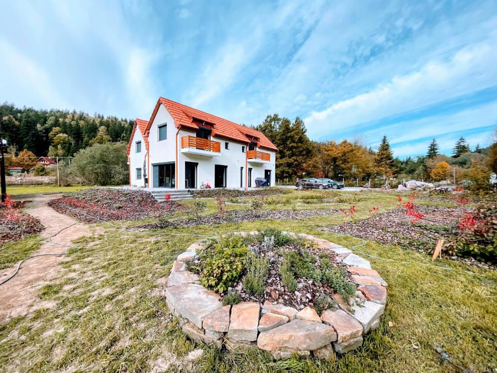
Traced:
POLYGON ((305 122, 314 134, 350 130, 360 123, 480 90, 497 83, 495 61, 496 40, 465 47, 448 61, 430 61, 418 71, 394 77, 370 92, 313 111, 305 122))

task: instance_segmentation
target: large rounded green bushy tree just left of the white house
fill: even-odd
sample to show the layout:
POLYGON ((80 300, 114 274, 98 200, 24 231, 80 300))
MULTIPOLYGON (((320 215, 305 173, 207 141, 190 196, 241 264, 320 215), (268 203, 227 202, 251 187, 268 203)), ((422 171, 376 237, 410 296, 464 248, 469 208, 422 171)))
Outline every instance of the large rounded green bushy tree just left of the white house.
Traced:
POLYGON ((94 144, 76 153, 71 172, 90 185, 121 185, 128 182, 125 142, 94 144))

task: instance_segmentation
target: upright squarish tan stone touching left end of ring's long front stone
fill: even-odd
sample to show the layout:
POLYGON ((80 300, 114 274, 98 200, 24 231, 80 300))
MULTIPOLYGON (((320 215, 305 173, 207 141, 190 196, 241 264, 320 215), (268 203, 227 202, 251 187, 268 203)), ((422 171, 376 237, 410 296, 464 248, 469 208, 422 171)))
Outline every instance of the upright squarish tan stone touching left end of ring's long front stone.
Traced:
POLYGON ((240 302, 231 308, 228 337, 237 341, 257 340, 260 307, 254 302, 240 302))

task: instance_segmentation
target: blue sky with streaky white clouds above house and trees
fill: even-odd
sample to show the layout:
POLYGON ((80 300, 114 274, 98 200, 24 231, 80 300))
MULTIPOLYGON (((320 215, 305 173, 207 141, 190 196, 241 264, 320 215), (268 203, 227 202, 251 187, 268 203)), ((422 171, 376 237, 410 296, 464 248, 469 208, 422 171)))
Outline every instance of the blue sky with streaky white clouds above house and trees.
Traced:
POLYGON ((496 1, 0 0, 0 101, 148 119, 162 95, 396 155, 486 146, 496 1))

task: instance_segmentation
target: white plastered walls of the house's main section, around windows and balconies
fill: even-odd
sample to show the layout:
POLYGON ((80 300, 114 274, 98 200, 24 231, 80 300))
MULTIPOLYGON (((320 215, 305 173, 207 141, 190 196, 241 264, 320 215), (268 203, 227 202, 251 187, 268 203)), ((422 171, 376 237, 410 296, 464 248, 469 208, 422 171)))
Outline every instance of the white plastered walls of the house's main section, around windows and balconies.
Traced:
MULTIPOLYGON (((156 163, 176 162, 176 131, 174 121, 166 110, 164 105, 161 105, 157 111, 157 115, 152 122, 149 135, 149 149, 150 149, 150 167, 149 167, 149 180, 150 187, 153 187, 153 168, 152 165, 156 163), (158 141, 158 126, 167 123, 167 140, 158 141)), ((180 130, 177 136, 177 149, 178 149, 178 164, 176 186, 179 189, 185 187, 185 162, 198 163, 197 166, 197 188, 203 181, 209 181, 211 186, 214 187, 214 166, 225 165, 227 169, 227 187, 240 187, 240 167, 244 168, 242 186, 246 187, 247 169, 252 168, 252 187, 255 187, 255 178, 264 177, 264 170, 271 170, 271 186, 274 186, 274 173, 275 173, 275 153, 267 150, 260 150, 270 154, 270 162, 268 164, 246 164, 247 153, 242 153, 242 145, 234 141, 225 140, 222 138, 212 137, 211 140, 221 143, 221 156, 207 157, 201 155, 181 153, 181 137, 182 136, 195 136, 195 132, 180 130), (228 142, 229 150, 225 149, 225 142, 228 142)))

